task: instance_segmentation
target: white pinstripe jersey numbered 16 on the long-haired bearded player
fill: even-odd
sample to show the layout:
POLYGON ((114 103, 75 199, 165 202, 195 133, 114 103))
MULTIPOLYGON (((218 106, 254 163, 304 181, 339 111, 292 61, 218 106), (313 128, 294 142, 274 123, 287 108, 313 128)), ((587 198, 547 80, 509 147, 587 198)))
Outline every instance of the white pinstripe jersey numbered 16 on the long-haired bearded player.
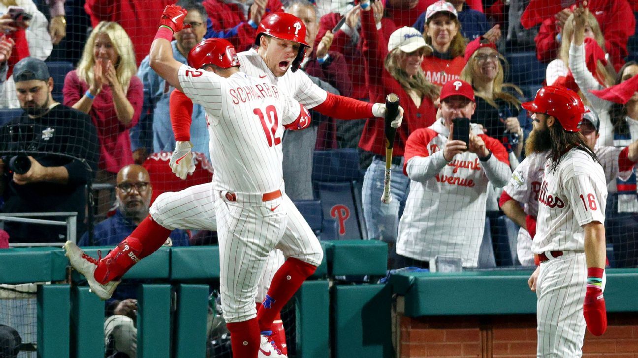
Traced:
POLYGON ((545 177, 538 194, 536 236, 532 250, 584 250, 582 226, 605 223, 607 184, 602 166, 586 152, 572 148, 555 170, 545 163, 545 177))

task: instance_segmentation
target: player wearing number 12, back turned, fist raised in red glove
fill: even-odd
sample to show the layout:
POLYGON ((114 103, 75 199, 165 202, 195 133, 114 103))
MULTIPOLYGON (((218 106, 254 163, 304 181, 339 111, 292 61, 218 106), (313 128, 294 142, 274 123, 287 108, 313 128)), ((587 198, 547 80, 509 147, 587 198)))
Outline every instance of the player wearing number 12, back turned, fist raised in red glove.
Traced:
MULTIPOLYGON (((277 85, 239 73, 234 48, 225 40, 211 39, 202 44, 207 47, 205 53, 209 54, 212 72, 175 61, 170 38, 182 29, 184 15, 179 6, 165 9, 151 48, 151 67, 207 112, 216 174, 205 194, 218 196, 214 199, 214 217, 219 237, 221 297, 233 351, 237 357, 285 357, 264 335, 260 341, 254 297, 265 259, 275 247, 288 258, 282 267, 286 285, 271 285, 269 307, 283 306, 323 258, 314 235, 295 235, 286 225, 288 220, 303 219, 283 193, 279 140, 283 128, 279 122, 284 127, 300 129, 308 125, 309 115, 277 85)), ((171 161, 174 171, 182 177, 192 171, 190 147, 189 143, 178 143, 171 161)), ((189 194, 202 194, 197 190, 204 189, 202 185, 193 188, 187 189, 189 194)), ((159 201, 161 198, 156 203, 159 201)), ((177 208, 175 217, 183 219, 184 211, 191 210, 198 214, 189 215, 191 220, 206 220, 196 207, 198 203, 201 201, 177 208)), ((152 232, 168 230, 162 222, 154 222, 153 217, 151 213, 151 218, 136 229, 139 233, 131 234, 98 262, 89 262, 81 250, 67 243, 71 264, 87 276, 89 284, 96 281, 92 288, 109 294, 107 285, 112 280, 156 250, 154 242, 148 240, 152 232), (140 241, 136 234, 142 234, 147 241, 140 241)), ((272 317, 270 320, 272 323, 272 317)))

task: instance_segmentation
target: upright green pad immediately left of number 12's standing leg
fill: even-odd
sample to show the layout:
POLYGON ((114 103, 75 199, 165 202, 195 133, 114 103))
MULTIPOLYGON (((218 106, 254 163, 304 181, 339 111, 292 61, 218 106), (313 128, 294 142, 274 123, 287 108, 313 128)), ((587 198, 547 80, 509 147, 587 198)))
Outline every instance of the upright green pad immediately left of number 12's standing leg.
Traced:
POLYGON ((174 358, 206 356, 208 285, 177 285, 174 358))

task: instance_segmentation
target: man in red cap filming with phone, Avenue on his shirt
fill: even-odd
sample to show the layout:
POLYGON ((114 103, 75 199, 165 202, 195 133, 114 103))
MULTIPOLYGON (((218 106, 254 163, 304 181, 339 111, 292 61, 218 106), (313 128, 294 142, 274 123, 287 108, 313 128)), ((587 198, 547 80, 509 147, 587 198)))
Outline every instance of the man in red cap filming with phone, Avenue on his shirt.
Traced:
POLYGON ((397 254, 403 262, 397 267, 429 268, 436 256, 477 267, 487 183, 503 187, 512 175, 500 141, 470 124, 476 109, 471 85, 446 82, 440 101, 440 118, 406 142, 403 171, 410 194, 399 222, 397 254))

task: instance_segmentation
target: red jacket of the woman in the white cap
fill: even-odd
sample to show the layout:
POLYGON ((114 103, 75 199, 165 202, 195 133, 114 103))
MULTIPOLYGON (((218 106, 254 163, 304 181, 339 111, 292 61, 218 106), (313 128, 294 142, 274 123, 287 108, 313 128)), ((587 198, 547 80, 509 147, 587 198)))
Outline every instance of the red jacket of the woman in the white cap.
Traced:
MULTIPOLYGON (((397 129, 394 140, 394 154, 403 156, 408 136, 419 128, 429 127, 436 118, 436 108, 429 97, 424 97, 419 108, 385 69, 385 56, 388 54, 387 42, 376 30, 373 11, 361 13, 361 34, 363 54, 367 59, 367 78, 370 99, 372 102, 385 103, 385 96, 395 93, 399 96, 399 104, 403 107, 403 124, 397 129)), ((378 155, 385 154, 385 124, 383 118, 368 118, 364 127, 359 147, 378 155)))

